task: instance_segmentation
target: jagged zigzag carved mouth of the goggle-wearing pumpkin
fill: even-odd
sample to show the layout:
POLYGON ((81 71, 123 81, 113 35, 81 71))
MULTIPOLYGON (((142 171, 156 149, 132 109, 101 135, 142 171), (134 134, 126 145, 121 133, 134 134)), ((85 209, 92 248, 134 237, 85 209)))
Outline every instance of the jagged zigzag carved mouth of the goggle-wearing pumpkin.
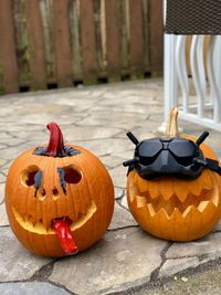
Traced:
POLYGON ((185 201, 173 193, 168 200, 165 197, 155 196, 152 199, 149 193, 141 192, 135 197, 136 206, 138 209, 147 207, 150 215, 155 215, 160 210, 170 217, 176 210, 178 210, 183 217, 186 217, 192 208, 196 208, 199 212, 203 212, 210 204, 218 207, 219 193, 215 188, 212 190, 202 189, 199 196, 188 193, 185 201))

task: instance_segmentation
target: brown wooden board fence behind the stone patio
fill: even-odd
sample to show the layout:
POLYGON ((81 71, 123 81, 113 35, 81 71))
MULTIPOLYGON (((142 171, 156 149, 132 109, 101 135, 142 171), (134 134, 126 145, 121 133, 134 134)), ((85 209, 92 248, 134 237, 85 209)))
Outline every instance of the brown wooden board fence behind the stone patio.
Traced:
POLYGON ((0 92, 160 72, 161 0, 0 0, 0 92))

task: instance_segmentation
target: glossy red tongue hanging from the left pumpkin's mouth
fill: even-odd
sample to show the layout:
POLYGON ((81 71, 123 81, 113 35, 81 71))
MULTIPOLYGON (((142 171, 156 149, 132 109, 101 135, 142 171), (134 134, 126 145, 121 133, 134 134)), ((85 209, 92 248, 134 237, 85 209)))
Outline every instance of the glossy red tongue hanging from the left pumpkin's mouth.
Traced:
POLYGON ((62 219, 53 220, 52 229, 56 232, 60 246, 66 254, 71 255, 78 252, 67 221, 62 219))

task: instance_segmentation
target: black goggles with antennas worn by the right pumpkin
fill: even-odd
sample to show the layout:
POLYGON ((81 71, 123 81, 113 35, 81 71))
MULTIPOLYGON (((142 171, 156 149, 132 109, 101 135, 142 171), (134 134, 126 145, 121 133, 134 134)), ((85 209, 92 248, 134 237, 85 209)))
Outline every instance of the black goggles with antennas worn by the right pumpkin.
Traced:
POLYGON ((136 145, 131 160, 123 162, 129 170, 135 169, 140 177, 152 179, 161 176, 173 176, 193 179, 201 175, 203 168, 209 168, 221 175, 219 162, 204 158, 200 145, 209 136, 208 131, 193 143, 181 137, 151 138, 139 143, 129 131, 128 138, 136 145))

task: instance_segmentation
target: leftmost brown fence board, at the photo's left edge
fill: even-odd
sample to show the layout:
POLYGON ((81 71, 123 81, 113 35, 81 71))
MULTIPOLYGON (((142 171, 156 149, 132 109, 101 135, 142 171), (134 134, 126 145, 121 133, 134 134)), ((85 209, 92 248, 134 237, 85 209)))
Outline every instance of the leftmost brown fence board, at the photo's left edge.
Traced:
POLYGON ((7 93, 15 93, 19 91, 19 82, 11 0, 0 1, 0 40, 3 89, 7 93))

